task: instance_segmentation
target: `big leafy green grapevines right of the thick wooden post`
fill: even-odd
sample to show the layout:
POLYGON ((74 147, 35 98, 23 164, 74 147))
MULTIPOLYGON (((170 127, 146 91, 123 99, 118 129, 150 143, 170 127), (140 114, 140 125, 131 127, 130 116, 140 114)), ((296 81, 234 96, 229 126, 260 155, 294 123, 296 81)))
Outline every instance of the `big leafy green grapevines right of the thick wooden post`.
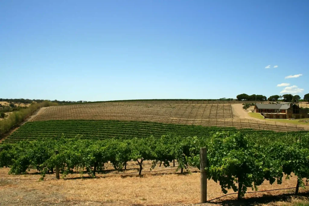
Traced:
MULTIPOLYGON (((205 168, 208 178, 219 182, 224 193, 227 193, 226 189, 238 191, 240 199, 248 187, 257 190, 265 179, 270 184, 276 180, 281 184, 283 174, 289 178, 294 173, 298 177, 298 192, 298 187, 304 185, 302 179, 309 178, 309 135, 294 142, 283 138, 271 142, 268 138, 240 133, 214 134, 199 144, 199 147, 208 148, 205 168)), ((199 167, 199 154, 191 153, 188 162, 199 167)))

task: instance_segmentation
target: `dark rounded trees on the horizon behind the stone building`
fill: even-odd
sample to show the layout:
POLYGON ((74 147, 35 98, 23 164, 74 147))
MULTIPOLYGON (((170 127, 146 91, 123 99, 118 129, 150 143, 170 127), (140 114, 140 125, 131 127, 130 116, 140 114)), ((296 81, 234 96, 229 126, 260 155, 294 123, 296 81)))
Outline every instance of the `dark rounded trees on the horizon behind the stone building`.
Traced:
MULTIPOLYGON (((266 96, 263 95, 247 95, 247 94, 240 94, 236 96, 238 101, 269 101, 269 102, 277 102, 278 99, 280 99, 283 102, 298 102, 301 100, 301 97, 299 95, 291 95, 291 94, 285 94, 285 95, 272 95, 269 98, 266 98, 266 96)), ((304 101, 309 103, 309 93, 304 95, 304 101)))

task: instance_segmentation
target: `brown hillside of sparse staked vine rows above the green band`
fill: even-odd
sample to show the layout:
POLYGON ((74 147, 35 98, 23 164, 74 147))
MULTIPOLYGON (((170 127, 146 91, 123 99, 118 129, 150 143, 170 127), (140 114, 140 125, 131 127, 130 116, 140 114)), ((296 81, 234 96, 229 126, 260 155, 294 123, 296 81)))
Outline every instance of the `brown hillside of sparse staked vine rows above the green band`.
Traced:
POLYGON ((72 104, 47 107, 33 121, 127 120, 194 124, 201 126, 300 131, 303 127, 256 120, 235 119, 229 102, 149 101, 72 104))

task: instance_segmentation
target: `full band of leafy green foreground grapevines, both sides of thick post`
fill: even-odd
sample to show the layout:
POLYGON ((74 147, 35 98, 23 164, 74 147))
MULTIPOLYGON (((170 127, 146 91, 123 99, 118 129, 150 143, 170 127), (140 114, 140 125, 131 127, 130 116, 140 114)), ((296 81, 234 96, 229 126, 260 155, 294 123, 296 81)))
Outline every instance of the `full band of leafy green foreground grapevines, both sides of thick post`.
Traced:
POLYGON ((10 174, 36 169, 42 180, 54 168, 59 168, 63 178, 70 173, 128 174, 126 166, 130 161, 139 166, 139 175, 147 160, 150 171, 159 163, 168 167, 173 161, 181 171, 199 168, 201 147, 208 148, 205 168, 208 178, 218 181, 223 193, 233 189, 241 197, 247 188, 257 190, 264 180, 281 184, 284 174, 298 177, 297 188, 309 178, 309 135, 304 132, 274 136, 263 132, 223 131, 204 137, 167 134, 129 140, 87 140, 78 135, 74 139, 63 136, 57 140, 21 141, 2 146, 0 167, 10 167, 10 174))

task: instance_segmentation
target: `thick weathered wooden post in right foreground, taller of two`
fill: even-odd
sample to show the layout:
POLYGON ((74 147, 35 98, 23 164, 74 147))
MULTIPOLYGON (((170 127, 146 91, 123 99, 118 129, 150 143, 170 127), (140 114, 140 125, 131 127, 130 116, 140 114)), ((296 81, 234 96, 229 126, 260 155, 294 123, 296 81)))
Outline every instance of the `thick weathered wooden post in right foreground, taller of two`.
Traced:
POLYGON ((207 148, 200 149, 200 172, 201 172, 201 203, 207 201, 207 148))

